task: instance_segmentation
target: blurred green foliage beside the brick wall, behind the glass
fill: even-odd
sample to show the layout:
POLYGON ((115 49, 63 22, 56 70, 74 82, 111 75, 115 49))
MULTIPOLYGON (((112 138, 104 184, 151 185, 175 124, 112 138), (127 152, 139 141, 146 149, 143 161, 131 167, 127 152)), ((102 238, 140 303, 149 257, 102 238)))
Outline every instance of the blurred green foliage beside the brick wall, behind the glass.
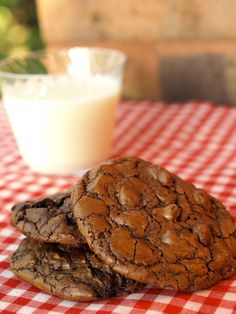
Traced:
POLYGON ((0 0, 0 59, 44 47, 33 0, 0 0))

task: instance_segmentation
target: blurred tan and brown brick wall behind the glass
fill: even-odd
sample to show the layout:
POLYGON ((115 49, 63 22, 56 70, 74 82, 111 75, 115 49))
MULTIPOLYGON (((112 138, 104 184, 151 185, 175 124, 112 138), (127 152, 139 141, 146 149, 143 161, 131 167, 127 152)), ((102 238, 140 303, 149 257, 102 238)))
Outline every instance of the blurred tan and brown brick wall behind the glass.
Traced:
POLYGON ((236 0, 37 0, 51 48, 125 52, 124 96, 236 103, 236 0))

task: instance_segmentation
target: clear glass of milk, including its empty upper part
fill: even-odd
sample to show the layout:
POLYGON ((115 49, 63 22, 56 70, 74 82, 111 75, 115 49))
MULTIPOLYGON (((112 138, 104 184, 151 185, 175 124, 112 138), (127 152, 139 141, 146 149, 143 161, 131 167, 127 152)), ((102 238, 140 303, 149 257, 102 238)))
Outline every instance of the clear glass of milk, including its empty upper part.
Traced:
POLYGON ((0 62, 2 100, 27 165, 71 174, 109 158, 126 56, 103 48, 0 62))

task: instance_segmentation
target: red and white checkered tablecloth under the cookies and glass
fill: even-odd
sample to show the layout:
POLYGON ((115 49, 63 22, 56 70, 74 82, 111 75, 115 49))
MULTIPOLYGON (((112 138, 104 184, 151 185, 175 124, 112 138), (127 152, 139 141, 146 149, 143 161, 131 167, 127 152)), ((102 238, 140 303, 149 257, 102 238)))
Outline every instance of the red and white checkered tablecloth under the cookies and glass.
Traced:
MULTIPOLYGON (((218 197, 236 218, 236 108, 201 102, 124 102, 112 155, 138 156, 167 167, 218 197)), ((22 237, 9 226, 12 205, 63 191, 77 179, 32 173, 19 156, 0 105, 1 313, 236 313, 236 276, 193 294, 147 287, 93 303, 61 300, 18 280, 8 268, 22 237)))

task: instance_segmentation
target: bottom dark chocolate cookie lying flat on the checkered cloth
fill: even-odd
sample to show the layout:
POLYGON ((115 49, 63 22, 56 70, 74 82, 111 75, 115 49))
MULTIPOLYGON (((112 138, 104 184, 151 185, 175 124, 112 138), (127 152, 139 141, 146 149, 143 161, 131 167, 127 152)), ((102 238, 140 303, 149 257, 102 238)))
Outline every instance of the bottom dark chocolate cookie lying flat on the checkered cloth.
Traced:
POLYGON ((37 288, 72 301, 110 298, 143 287, 112 271, 83 246, 64 250, 29 238, 13 254, 11 269, 37 288))

